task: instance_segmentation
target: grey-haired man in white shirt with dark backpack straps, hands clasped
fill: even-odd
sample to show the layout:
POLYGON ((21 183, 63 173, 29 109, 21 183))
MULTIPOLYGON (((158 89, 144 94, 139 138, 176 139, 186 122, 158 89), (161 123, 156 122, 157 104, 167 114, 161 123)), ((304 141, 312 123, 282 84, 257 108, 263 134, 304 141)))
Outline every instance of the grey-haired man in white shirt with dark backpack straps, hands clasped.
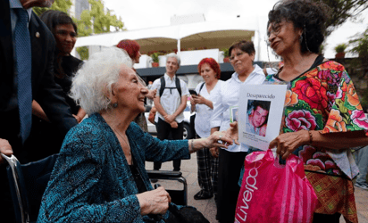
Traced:
MULTIPOLYGON (((166 72, 162 78, 154 81, 151 89, 157 89, 154 98, 157 138, 160 140, 183 139, 183 111, 189 95, 187 84, 175 73, 180 68, 180 57, 171 53, 166 55, 166 72)), ((161 169, 161 161, 154 162, 154 169, 161 169)), ((180 171, 180 160, 173 161, 173 170, 180 171)))

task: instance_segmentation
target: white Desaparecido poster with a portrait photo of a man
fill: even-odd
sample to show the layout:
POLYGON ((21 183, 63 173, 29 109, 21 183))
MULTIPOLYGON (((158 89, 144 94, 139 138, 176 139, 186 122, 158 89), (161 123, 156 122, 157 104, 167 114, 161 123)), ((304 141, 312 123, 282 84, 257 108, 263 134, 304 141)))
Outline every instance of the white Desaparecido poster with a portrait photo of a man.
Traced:
POLYGON ((239 142, 267 150, 279 136, 286 85, 244 85, 238 106, 239 142))

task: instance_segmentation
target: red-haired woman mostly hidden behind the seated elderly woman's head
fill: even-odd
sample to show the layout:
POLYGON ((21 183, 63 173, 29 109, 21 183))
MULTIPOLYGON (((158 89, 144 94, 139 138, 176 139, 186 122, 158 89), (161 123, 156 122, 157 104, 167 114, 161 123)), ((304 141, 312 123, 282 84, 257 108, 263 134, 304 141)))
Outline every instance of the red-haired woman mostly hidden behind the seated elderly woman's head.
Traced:
MULTIPOLYGON (((139 50, 140 50, 140 45, 138 45, 137 41, 136 40, 131 40, 131 39, 123 39, 119 42, 118 45, 116 45, 118 48, 121 48, 123 50, 125 50, 129 56, 130 56, 130 59, 131 61, 134 63, 138 63, 139 62, 139 58, 142 54, 140 54, 139 50)), ((133 68, 133 70, 135 70, 133 68)), ((138 74, 138 72, 137 72, 138 74)), ((146 83, 145 81, 139 77, 139 74, 138 74, 138 79, 139 79, 139 82, 146 87, 146 83)), ((153 100, 155 95, 156 95, 156 92, 157 92, 157 89, 155 90, 148 90, 148 94, 146 95, 147 98, 153 100)), ((145 117, 145 113, 142 112, 140 114, 138 114, 137 118, 134 120, 138 126, 140 128, 142 128, 145 132, 148 131, 148 128, 147 128, 147 123, 146 123, 146 117, 145 117)))

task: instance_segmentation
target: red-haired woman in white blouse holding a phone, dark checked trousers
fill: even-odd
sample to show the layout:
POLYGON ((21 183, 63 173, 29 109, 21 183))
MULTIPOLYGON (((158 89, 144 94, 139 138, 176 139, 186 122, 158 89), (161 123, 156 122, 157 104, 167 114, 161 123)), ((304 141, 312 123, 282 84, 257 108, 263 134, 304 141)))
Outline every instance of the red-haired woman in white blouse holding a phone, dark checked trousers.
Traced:
MULTIPOLYGON (((210 121, 213 111, 213 100, 218 96, 222 87, 220 65, 213 58, 205 58, 198 64, 198 72, 204 78, 196 87, 197 95, 192 95, 190 103, 192 111, 196 109, 195 129, 197 138, 211 135, 210 121)), ((213 157, 209 148, 197 151, 198 184, 201 190, 194 195, 194 199, 202 200, 217 194, 217 169, 219 159, 213 157)))

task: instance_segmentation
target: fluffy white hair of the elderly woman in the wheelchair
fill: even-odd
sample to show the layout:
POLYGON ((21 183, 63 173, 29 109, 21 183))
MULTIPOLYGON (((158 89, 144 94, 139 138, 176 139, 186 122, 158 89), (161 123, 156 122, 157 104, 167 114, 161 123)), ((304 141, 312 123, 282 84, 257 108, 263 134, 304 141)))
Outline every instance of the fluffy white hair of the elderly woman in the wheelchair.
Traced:
POLYGON ((92 54, 72 79, 71 97, 88 115, 107 110, 113 84, 119 80, 121 66, 132 68, 129 54, 117 47, 107 47, 92 54))

